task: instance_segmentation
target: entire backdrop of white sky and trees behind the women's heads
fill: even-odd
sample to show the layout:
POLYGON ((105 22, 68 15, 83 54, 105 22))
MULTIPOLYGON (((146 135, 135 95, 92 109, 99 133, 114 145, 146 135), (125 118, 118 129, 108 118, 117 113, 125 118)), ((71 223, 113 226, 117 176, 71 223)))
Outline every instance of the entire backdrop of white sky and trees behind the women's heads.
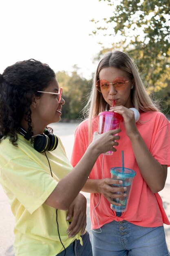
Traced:
POLYGON ((98 59, 114 49, 135 61, 169 115, 169 0, 1 0, 0 8, 0 73, 29 58, 49 64, 64 89, 62 121, 82 117, 98 59))

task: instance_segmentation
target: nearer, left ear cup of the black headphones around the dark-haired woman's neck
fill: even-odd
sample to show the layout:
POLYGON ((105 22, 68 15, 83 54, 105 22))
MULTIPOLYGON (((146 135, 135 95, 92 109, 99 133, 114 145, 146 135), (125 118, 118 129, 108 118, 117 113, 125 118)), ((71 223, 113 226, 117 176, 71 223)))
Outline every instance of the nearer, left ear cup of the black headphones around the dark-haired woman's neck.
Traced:
POLYGON ((40 153, 44 153, 46 150, 49 149, 50 139, 45 134, 37 135, 34 139, 34 148, 40 153))

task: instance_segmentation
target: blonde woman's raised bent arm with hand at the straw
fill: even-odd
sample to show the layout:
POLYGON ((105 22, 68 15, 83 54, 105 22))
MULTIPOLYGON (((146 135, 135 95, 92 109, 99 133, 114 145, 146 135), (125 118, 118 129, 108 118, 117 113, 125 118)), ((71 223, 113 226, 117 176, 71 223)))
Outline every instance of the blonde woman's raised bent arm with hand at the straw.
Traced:
POLYGON ((137 130, 134 112, 123 106, 111 109, 124 117, 126 135, 130 138, 137 164, 145 182, 152 193, 161 191, 166 182, 167 165, 161 165, 150 153, 144 139, 137 130))

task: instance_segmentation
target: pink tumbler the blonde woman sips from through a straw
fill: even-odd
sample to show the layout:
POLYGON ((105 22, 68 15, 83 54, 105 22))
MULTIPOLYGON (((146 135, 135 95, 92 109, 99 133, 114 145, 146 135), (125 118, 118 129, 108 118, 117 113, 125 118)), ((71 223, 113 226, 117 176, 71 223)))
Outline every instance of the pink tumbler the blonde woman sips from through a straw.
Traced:
MULTIPOLYGON (((109 130, 118 129, 120 127, 123 117, 117 113, 104 111, 99 113, 98 133, 102 134, 109 130)), ((117 135, 117 134, 115 134, 117 135)), ((112 151, 104 153, 104 155, 112 155, 112 151)))

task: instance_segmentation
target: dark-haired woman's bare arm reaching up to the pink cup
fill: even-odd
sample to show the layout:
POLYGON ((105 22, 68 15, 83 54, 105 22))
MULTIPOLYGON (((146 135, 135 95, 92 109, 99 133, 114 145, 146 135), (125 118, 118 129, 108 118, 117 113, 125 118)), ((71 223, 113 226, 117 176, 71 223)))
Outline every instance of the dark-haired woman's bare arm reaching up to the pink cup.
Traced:
POLYGON ((71 173, 66 175, 60 182, 58 182, 54 191, 49 198, 45 201, 51 207, 56 209, 66 210, 71 205, 79 191, 84 186, 88 175, 97 160, 97 157, 107 151, 116 151, 113 146, 117 146, 118 143, 115 140, 119 140, 119 136, 114 134, 120 132, 120 129, 105 132, 99 135, 95 132, 92 143, 88 146, 85 154, 79 163, 73 168, 71 173))

